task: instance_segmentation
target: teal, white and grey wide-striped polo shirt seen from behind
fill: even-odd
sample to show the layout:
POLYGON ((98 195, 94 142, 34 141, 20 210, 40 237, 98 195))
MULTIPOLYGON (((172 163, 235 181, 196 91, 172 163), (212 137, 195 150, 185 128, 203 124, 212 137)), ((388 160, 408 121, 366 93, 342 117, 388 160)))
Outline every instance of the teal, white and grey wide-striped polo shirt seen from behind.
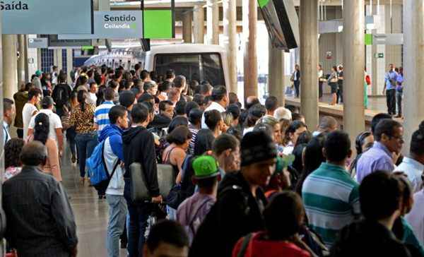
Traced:
POLYGON ((358 183, 338 165, 322 163, 312 172, 303 184, 302 199, 310 227, 328 247, 360 215, 358 183))

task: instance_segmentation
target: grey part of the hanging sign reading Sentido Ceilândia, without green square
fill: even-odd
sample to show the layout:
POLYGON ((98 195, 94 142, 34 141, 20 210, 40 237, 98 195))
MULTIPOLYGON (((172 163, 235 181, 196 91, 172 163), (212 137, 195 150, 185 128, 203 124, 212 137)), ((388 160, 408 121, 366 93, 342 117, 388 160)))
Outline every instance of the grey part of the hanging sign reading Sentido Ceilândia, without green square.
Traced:
POLYGON ((59 35, 59 40, 143 38, 143 11, 95 11, 94 34, 59 35))

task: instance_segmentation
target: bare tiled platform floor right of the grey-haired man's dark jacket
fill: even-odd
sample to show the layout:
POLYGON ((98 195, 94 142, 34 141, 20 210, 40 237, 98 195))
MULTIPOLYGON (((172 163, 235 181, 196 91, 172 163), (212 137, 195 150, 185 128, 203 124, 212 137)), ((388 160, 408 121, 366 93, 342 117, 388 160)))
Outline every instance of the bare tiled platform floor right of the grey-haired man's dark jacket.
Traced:
MULTIPOLYGON (((68 151, 64 156, 61 172, 66 191, 71 196, 70 201, 76 219, 78 257, 107 256, 107 202, 105 199, 98 200, 93 187, 89 187, 87 183, 80 184, 78 167, 71 165, 68 151)), ((122 249, 120 256, 126 256, 126 250, 122 249)))

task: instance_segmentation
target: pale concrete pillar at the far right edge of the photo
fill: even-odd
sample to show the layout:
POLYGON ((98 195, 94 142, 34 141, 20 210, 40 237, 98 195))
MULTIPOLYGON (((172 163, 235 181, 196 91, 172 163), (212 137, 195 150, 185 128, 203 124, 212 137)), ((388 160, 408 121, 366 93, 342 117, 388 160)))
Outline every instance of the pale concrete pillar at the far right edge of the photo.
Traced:
POLYGON ((404 1, 404 154, 424 120, 424 1, 404 1))

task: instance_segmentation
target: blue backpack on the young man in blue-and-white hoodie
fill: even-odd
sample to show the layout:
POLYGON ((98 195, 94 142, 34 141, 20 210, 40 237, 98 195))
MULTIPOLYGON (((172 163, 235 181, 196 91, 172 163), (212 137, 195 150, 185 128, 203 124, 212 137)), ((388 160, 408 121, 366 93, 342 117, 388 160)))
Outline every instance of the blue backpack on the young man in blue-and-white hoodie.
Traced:
POLYGON ((114 172, 117 170, 117 167, 120 160, 114 165, 112 173, 109 174, 107 171, 105 156, 103 155, 105 151, 105 141, 99 143, 93 150, 91 156, 86 160, 86 167, 88 169, 88 175, 90 176, 90 182, 94 188, 99 192, 105 192, 107 186, 109 186, 110 179, 112 179, 114 172))

